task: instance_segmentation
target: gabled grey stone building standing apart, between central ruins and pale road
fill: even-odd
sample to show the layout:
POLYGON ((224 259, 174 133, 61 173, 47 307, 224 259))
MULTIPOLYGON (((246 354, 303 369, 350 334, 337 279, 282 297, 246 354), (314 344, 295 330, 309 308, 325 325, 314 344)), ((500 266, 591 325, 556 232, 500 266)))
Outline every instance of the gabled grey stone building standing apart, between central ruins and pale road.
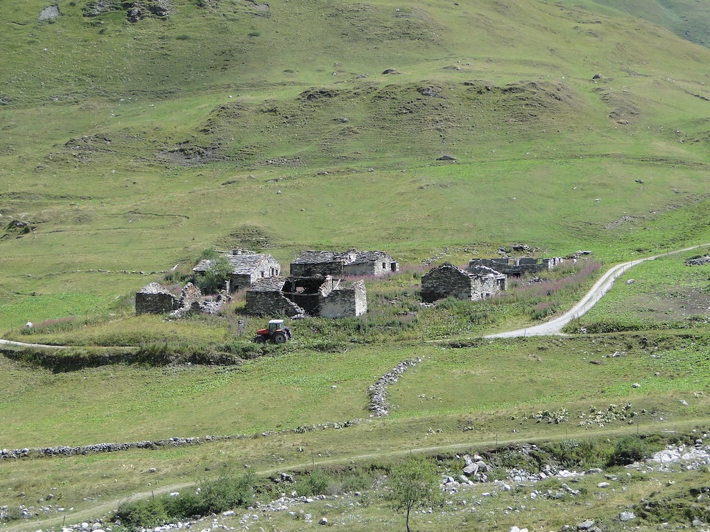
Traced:
POLYGON ((450 262, 422 275, 422 300, 434 302, 447 297, 478 301, 498 294, 508 287, 508 277, 489 267, 476 267, 466 272, 450 262))

